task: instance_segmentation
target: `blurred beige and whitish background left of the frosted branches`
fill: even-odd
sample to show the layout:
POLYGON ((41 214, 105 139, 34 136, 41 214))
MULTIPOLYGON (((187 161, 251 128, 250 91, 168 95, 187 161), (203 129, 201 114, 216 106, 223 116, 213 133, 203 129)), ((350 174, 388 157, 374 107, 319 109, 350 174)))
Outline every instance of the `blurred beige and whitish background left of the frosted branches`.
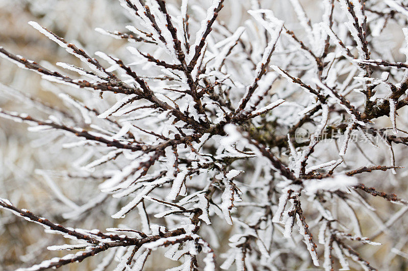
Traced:
MULTIPOLYGON (((100 35, 94 28, 122 30, 126 22, 129 22, 124 14, 119 2, 114 0, 1 0, 0 46, 46 67, 49 66, 47 62, 79 64, 76 57, 68 54, 27 22, 36 21, 89 52, 113 52, 125 42, 100 35)), ((37 74, 0 58, 0 107, 18 112, 36 112, 35 115, 38 116, 35 108, 8 95, 13 89, 8 89, 5 85, 38 97, 53 106, 61 106, 57 96, 49 91, 50 87, 58 86, 44 85, 37 74)), ((56 200, 55 193, 49 193, 53 185, 34 171, 36 168, 65 170, 70 167, 67 163, 72 160, 62 158, 81 154, 72 149, 59 148, 58 144, 49 148, 47 144, 49 145, 49 141, 44 140, 41 134, 28 132, 27 125, 0 119, 0 197, 9 198, 21 208, 28 208, 33 213, 62 223, 65 220, 61 217, 61 204, 56 200)), ((92 191, 92 187, 97 186, 81 183, 77 185, 77 189, 65 189, 72 187, 72 183, 61 178, 57 187, 65 196, 80 204, 83 196, 81 190, 88 187, 88 191, 92 191)), ((110 223, 105 225, 104 220, 96 221, 98 225, 87 225, 86 221, 73 224, 83 228, 112 226, 110 223)), ((61 236, 47 234, 42 227, 27 223, 9 212, 0 212, 0 270, 13 270, 47 258, 62 256, 59 252, 48 252, 46 247, 55 242, 62 244, 63 239, 61 236)), ((99 260, 84 262, 79 269, 77 263, 62 269, 91 270, 99 260)))

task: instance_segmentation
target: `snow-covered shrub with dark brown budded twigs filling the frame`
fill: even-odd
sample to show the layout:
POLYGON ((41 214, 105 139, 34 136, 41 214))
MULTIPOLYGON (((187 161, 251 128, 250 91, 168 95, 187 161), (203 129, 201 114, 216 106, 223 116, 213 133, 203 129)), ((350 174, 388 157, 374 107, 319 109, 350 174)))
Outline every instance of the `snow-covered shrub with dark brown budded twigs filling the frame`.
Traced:
MULTIPOLYGON (((384 269, 407 256, 397 233, 406 232, 408 207, 384 222, 368 196, 408 202, 363 184, 402 192, 406 160, 397 158, 408 133, 397 110, 408 104, 408 49, 405 61, 394 59, 389 44, 398 38, 387 26, 406 25, 404 1, 314 1, 313 21, 298 0, 248 2, 121 0, 133 23, 95 30, 129 42, 127 52, 87 52, 29 22, 81 67, 0 47, 60 98, 51 105, 2 86, 39 113, 0 116, 41 133, 42 152, 55 144, 81 154, 63 157, 72 160, 67 171, 35 171, 62 203, 62 221, 111 225, 71 228, 0 199, 71 239, 48 250, 75 250, 19 270, 100 254, 96 270, 141 270, 161 248, 180 262, 171 270, 375 270, 367 260, 384 269), (65 195, 73 189, 80 200, 65 195), (360 256, 380 248, 373 239, 385 232, 388 256, 360 256)), ((408 47, 408 28, 396 28, 408 47)))

